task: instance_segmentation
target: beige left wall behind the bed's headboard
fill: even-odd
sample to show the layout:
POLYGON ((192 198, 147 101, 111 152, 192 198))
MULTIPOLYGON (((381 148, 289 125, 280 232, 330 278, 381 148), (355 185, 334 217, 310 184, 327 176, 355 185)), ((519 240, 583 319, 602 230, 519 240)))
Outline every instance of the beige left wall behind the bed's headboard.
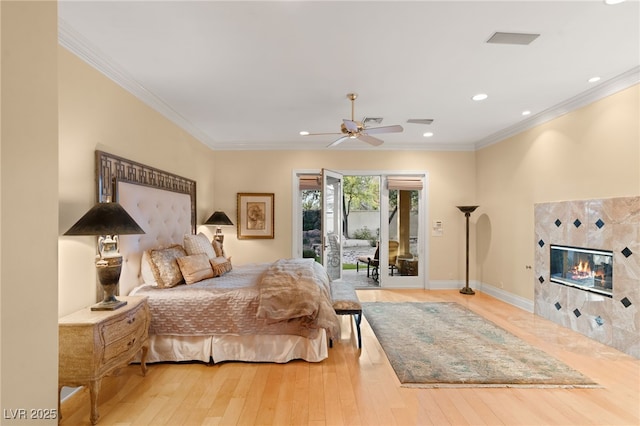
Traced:
POLYGON ((95 238, 62 236, 96 201, 95 150, 196 180, 199 222, 212 212, 215 154, 62 47, 59 87, 62 316, 95 302, 95 238))

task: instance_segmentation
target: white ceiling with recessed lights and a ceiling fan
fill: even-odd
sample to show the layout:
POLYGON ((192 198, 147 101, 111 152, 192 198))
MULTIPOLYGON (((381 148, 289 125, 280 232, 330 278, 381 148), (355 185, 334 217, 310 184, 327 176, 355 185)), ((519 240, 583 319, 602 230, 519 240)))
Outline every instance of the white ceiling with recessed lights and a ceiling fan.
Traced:
POLYGON ((473 150, 637 83, 639 6, 60 1, 59 38, 214 149, 325 149, 337 135, 299 132, 339 132, 357 92, 356 120, 404 132, 331 149, 473 150), (496 31, 540 36, 486 43, 496 31))

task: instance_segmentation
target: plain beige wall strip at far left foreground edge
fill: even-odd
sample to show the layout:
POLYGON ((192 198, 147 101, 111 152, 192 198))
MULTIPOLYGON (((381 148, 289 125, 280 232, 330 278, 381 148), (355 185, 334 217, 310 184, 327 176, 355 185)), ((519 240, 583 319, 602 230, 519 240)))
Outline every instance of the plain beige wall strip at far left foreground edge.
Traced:
POLYGON ((0 3, 2 424, 56 423, 18 411, 57 409, 56 7, 0 3))

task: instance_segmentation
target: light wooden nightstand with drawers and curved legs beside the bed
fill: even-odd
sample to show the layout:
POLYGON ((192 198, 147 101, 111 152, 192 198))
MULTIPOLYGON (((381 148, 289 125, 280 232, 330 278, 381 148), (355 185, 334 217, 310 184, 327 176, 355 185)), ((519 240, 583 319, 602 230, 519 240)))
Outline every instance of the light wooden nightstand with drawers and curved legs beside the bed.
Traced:
POLYGON ((103 377, 128 365, 142 350, 140 365, 149 349, 149 307, 145 297, 119 297, 127 304, 115 311, 81 309, 58 320, 58 413, 63 386, 88 386, 91 423, 96 424, 98 392, 103 377))

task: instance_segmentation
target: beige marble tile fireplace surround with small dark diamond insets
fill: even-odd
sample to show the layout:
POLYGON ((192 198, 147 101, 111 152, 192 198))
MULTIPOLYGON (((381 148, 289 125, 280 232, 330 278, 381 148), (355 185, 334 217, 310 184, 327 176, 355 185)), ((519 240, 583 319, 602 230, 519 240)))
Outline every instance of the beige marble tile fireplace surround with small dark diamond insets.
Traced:
POLYGON ((535 205, 537 315, 640 358, 640 197, 535 205), (613 297, 549 280, 551 244, 613 251, 613 297))

